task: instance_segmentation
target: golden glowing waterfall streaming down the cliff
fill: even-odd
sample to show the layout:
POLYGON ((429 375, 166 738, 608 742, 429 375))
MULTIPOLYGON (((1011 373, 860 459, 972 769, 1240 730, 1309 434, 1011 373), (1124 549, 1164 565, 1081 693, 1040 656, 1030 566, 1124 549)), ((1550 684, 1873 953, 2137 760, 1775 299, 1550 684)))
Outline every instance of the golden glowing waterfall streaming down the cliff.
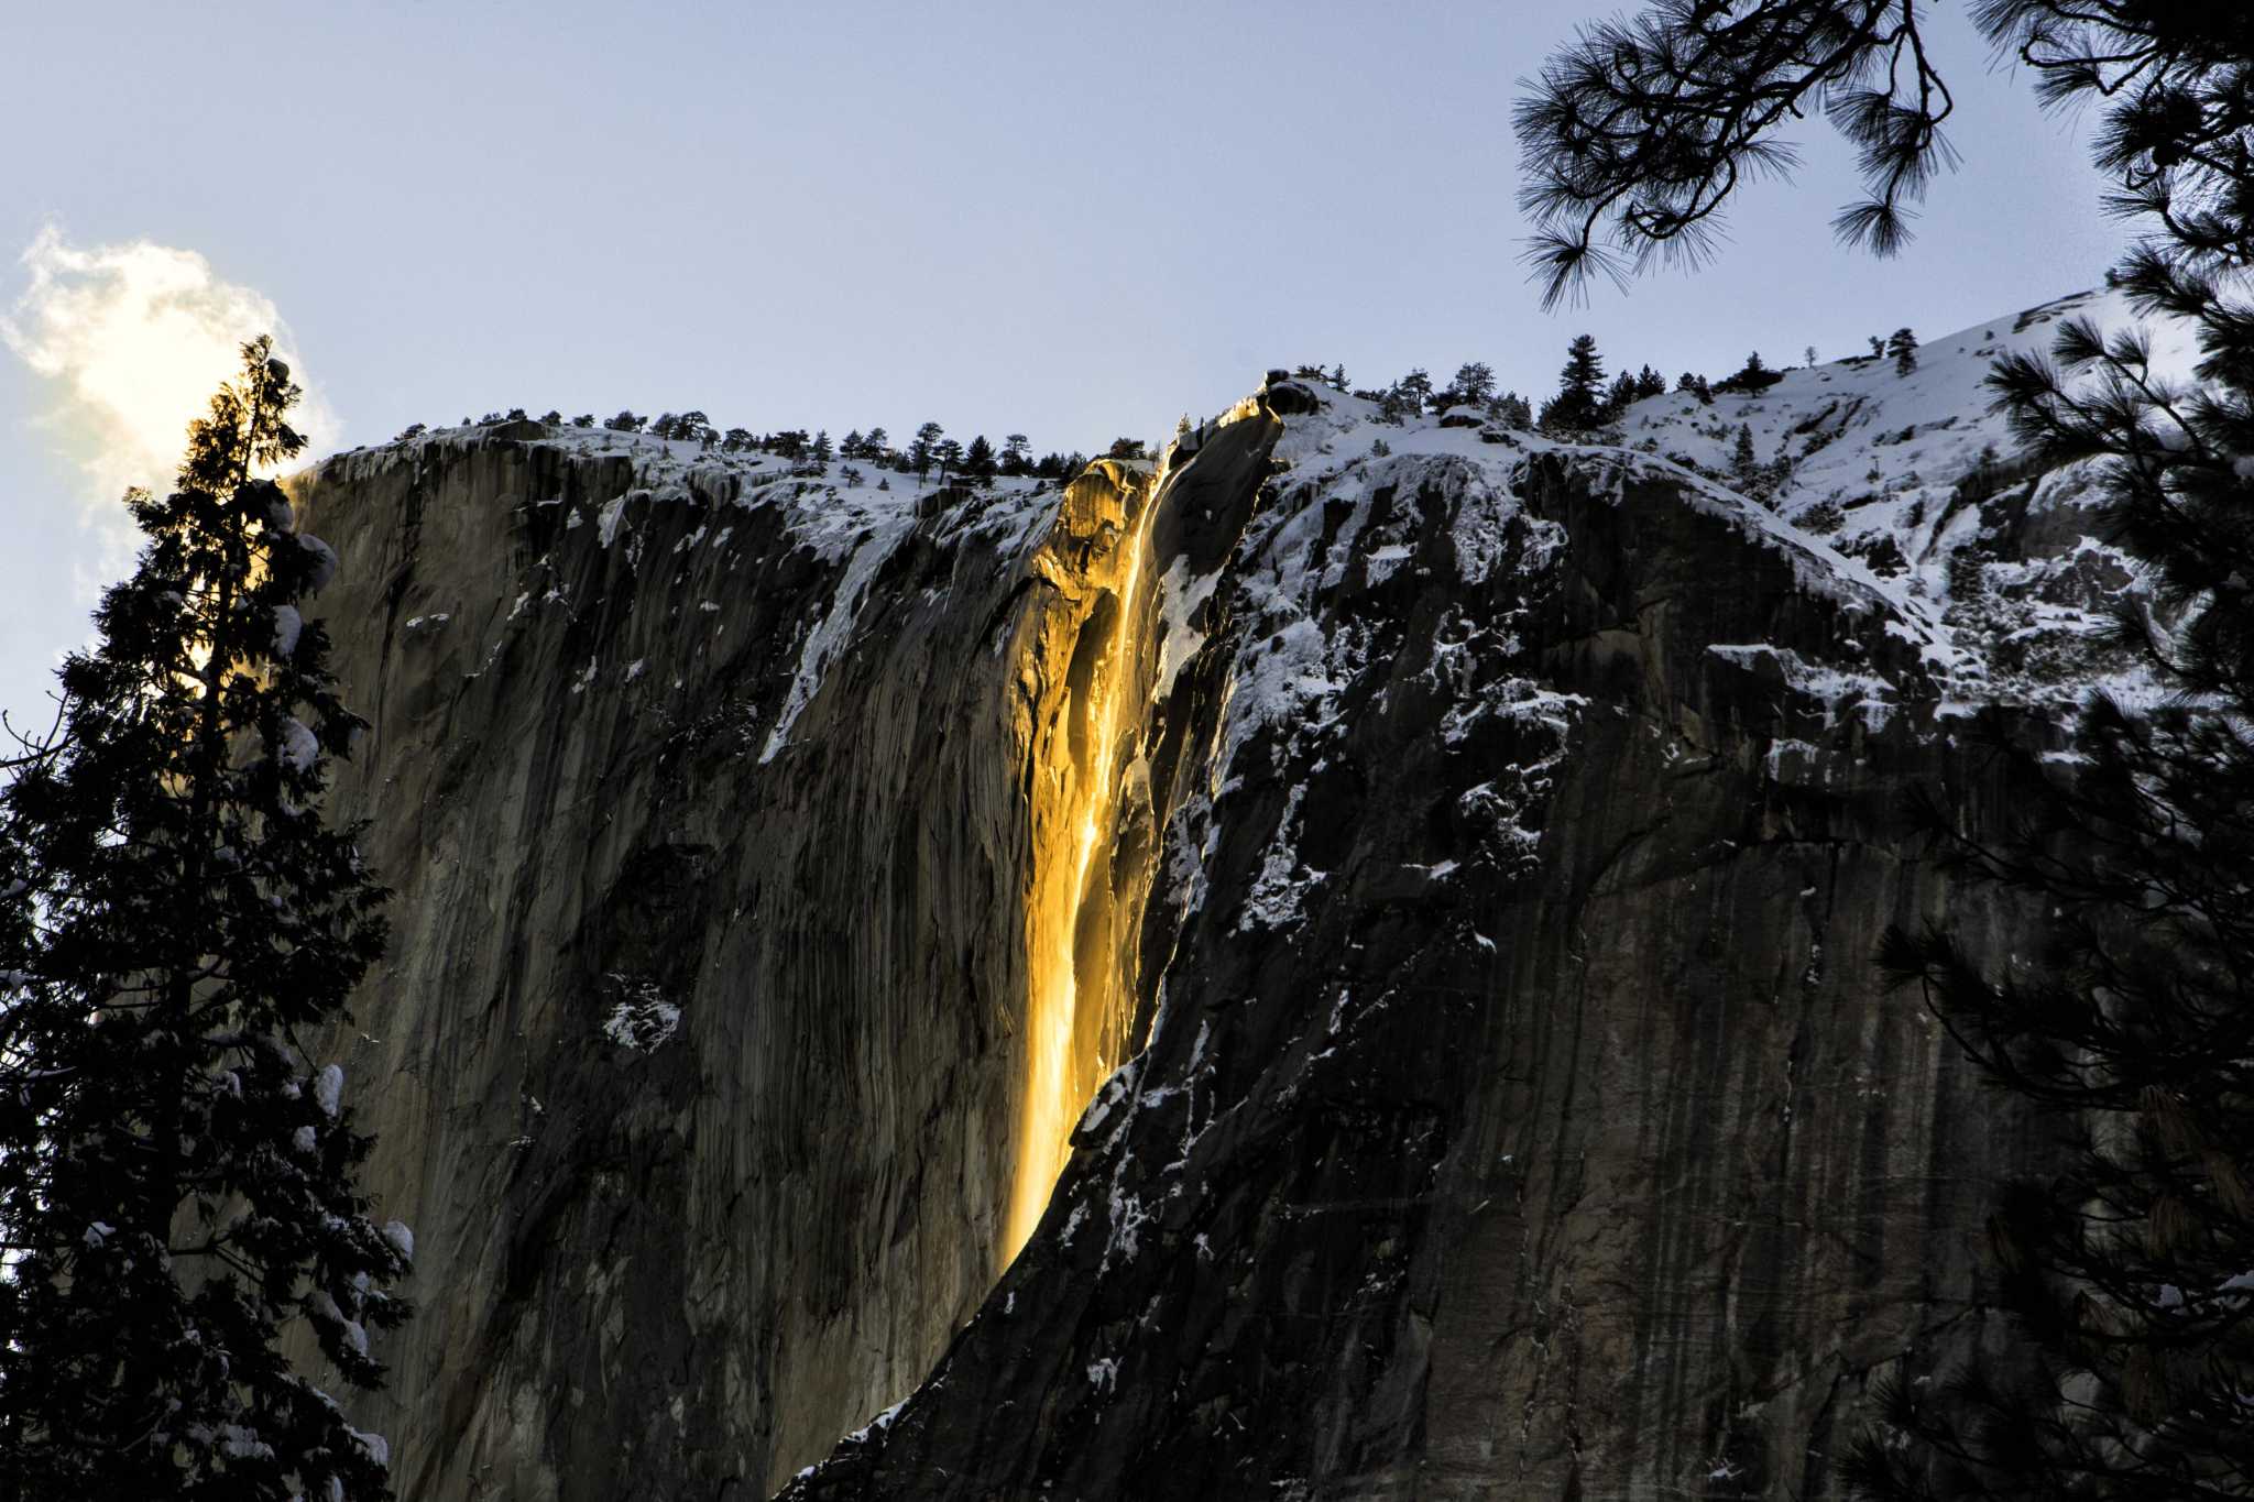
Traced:
POLYGON ((1129 529, 1109 556, 1091 558, 1077 581, 1089 604, 1077 610, 1071 658, 1084 660, 1086 671, 1068 673, 1050 723, 1035 732, 1035 797, 1053 802, 1035 808, 1026 910, 1026 1090, 1003 1266, 1039 1225, 1071 1155, 1073 1124, 1118 1063, 1102 1056, 1107 1040, 1118 1047, 1132 1025, 1134 998, 1129 977, 1120 975, 1120 932, 1138 921, 1141 914, 1129 908, 1141 903, 1118 901, 1111 844, 1127 772, 1120 757, 1143 718, 1143 565, 1159 484, 1120 480, 1125 475, 1113 471, 1109 480, 1080 482, 1111 484, 1111 493, 1125 495, 1129 507, 1141 502, 1141 509, 1125 518, 1129 529), (1091 637, 1091 631, 1102 635, 1091 637))

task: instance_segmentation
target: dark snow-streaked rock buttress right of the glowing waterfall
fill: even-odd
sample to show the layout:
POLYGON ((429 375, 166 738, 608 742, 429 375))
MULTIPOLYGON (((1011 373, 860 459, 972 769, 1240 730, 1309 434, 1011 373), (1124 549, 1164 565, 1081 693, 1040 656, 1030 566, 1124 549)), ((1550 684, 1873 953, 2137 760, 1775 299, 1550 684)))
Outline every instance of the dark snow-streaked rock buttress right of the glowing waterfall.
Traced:
POLYGON ((2029 1144, 1869 955, 2024 930, 1900 817, 2006 790, 1884 606, 1733 504, 1492 480, 1240 498, 1154 712, 1217 790, 1172 811, 1150 1045, 931 1383, 791 1497, 1830 1495, 1869 1376, 1965 1320, 2029 1144), (1325 687, 1242 712, 1310 624, 1325 687))

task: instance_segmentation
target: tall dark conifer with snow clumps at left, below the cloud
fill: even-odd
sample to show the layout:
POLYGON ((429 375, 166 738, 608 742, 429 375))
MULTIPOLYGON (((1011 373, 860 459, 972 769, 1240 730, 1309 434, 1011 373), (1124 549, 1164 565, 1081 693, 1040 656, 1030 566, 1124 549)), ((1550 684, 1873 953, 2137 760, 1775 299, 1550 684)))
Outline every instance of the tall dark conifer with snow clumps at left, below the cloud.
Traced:
POLYGON ((137 570, 0 790, 0 1497, 388 1497, 388 1452, 291 1369, 374 1387, 412 1241, 307 1047, 381 953, 318 804, 361 730, 298 606, 336 570, 259 471, 295 455, 266 340, 131 493, 137 570))

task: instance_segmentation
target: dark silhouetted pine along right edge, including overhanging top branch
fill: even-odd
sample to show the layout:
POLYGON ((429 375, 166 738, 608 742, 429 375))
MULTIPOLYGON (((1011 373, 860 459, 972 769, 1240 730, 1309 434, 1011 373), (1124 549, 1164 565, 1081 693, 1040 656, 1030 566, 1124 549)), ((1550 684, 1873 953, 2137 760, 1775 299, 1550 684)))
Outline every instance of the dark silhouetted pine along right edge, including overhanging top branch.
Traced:
MULTIPOLYGON (((1878 252, 1945 160, 1954 101, 1929 0, 1657 0, 1596 27, 1519 108, 1535 263, 1553 297, 1625 250, 1697 250, 1774 128, 1823 108, 1869 196, 1835 221, 1878 252)), ((2137 331, 2062 327, 1990 387, 2042 462, 2085 462, 2105 525, 2148 565, 2117 640, 2175 698, 2085 705, 2076 759, 2031 750, 2002 838, 1929 820, 1970 878, 2049 917, 2006 966, 1936 923, 1882 962, 1981 1072, 2058 1126, 2058 1171, 1999 1196, 1995 1304, 2013 1340, 1947 1367, 1905 1351, 1882 1430, 1846 1473, 1878 1497, 2254 1495, 2254 14, 2164 0, 1979 0, 1975 20, 2049 104, 2103 110, 2107 209, 2148 239, 2119 275, 2191 320, 2200 385, 2137 331)), ((1907 336, 1871 354, 1914 363, 1907 336)), ((1905 369, 1907 374, 1907 369, 1905 369)))

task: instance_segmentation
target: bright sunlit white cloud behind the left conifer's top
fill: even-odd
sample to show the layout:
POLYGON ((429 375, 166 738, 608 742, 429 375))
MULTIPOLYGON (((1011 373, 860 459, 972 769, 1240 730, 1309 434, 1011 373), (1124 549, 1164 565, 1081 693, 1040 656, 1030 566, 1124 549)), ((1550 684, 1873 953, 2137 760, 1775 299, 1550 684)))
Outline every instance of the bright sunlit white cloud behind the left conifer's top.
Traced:
POLYGON ((180 466, 187 423, 234 376, 239 347, 270 333, 304 401, 291 426, 309 450, 331 448, 336 417, 304 376, 273 299, 221 281, 194 250, 131 241, 74 248, 54 225, 23 252, 32 286, 0 315, 0 340, 50 387, 47 423, 86 473, 79 498, 110 543, 128 545, 117 509, 126 486, 165 491, 180 466))

